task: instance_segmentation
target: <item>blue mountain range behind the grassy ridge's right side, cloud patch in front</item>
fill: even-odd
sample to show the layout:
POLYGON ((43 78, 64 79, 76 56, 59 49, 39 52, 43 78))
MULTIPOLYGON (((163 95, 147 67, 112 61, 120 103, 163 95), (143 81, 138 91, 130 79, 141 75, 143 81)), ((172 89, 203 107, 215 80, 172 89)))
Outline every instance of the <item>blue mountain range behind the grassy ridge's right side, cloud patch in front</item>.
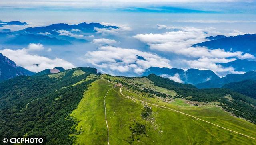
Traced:
POLYGON ((247 79, 256 79, 256 61, 249 61, 246 59, 237 59, 228 63, 216 63, 222 67, 232 67, 234 71, 247 72, 245 74, 228 74, 225 77, 219 77, 211 70, 198 70, 177 68, 159 68, 150 67, 142 74, 148 76, 149 74, 156 74, 158 76, 170 78, 176 82, 185 84, 194 84, 198 88, 220 88, 224 84, 230 82, 238 82, 247 79))

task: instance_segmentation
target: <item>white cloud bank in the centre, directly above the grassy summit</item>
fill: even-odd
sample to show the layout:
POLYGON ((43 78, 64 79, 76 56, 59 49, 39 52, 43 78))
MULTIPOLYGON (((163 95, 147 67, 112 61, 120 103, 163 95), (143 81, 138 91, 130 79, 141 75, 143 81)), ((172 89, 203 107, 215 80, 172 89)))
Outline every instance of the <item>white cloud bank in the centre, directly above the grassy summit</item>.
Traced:
POLYGON ((149 67, 171 67, 170 61, 159 55, 112 46, 102 46, 98 51, 89 51, 82 59, 97 68, 122 73, 130 71, 141 74, 149 67), (136 55, 145 60, 138 59, 136 55))

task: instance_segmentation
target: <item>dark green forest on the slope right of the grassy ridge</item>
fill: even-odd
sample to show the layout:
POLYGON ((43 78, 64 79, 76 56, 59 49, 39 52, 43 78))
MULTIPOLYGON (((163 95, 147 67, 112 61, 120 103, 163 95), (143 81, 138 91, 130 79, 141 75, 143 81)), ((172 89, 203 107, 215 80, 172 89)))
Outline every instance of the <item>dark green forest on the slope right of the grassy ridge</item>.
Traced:
POLYGON ((181 84, 154 74, 148 75, 147 78, 154 82, 154 85, 174 90, 181 97, 188 100, 198 102, 218 101, 224 110, 256 123, 256 100, 253 98, 224 88, 198 89, 190 84, 181 84), (232 100, 225 98, 227 95, 231 95, 232 100))

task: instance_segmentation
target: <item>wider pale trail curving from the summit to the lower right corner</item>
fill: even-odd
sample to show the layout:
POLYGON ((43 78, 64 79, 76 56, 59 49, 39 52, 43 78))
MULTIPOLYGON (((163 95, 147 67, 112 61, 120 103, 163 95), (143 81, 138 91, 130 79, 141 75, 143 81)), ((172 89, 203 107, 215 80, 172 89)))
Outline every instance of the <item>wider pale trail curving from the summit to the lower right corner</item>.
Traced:
MULTIPOLYGON (((108 82, 110 82, 110 81, 108 80, 108 82)), ((113 82, 110 82, 110 83, 114 84, 113 82)), ((116 85, 116 84, 115 84, 115 85, 116 85)), ((243 134, 243 133, 239 133, 239 132, 236 132, 236 131, 227 129, 227 128, 225 128, 225 127, 222 127, 222 126, 220 126, 220 125, 211 123, 211 122, 206 121, 206 120, 202 120, 202 119, 200 119, 200 118, 197 118, 196 116, 192 116, 192 115, 189 115, 189 114, 180 112, 180 111, 178 111, 178 110, 174 110, 174 109, 172 109, 172 108, 168 108, 168 107, 165 107, 165 106, 160 106, 160 105, 157 105, 157 104, 148 103, 148 102, 145 102, 145 101, 142 101, 142 100, 139 100, 139 99, 130 97, 130 96, 126 96, 126 95, 122 94, 122 87, 120 87, 120 94, 121 94, 122 96, 125 96, 125 97, 130 98, 130 99, 134 99, 134 100, 137 100, 137 101, 140 101, 140 102, 144 102, 144 103, 146 103, 146 104, 150 104, 150 105, 153 105, 153 106, 158 106, 158 107, 160 107, 160 108, 166 108, 166 109, 172 110, 172 111, 174 111, 174 112, 178 112, 178 113, 180 113, 180 114, 184 114, 184 115, 186 115, 186 116, 190 116, 190 117, 192 117, 192 118, 196 118, 197 120, 204 121, 204 122, 206 122, 206 123, 212 124, 212 125, 214 125, 214 126, 217 126, 217 127, 222 128, 222 129, 225 129, 225 130, 231 131, 231 132, 233 132, 233 133, 237 133, 237 134, 243 135, 243 136, 245 136, 245 137, 248 137, 248 138, 251 138, 251 139, 255 139, 255 140, 256 140, 256 138, 254 138, 254 137, 250 137, 250 136, 245 135, 245 134, 243 134)))

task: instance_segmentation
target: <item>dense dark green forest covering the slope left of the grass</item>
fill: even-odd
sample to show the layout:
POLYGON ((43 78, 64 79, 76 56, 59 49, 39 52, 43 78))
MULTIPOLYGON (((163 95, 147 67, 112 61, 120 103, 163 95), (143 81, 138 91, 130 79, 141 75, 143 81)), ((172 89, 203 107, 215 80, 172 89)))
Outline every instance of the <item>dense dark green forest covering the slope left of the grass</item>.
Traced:
POLYGON ((46 135, 49 145, 72 144, 77 122, 69 115, 96 79, 68 87, 92 73, 82 69, 86 73, 77 77, 73 69, 61 79, 20 76, 0 83, 0 134, 46 135))

